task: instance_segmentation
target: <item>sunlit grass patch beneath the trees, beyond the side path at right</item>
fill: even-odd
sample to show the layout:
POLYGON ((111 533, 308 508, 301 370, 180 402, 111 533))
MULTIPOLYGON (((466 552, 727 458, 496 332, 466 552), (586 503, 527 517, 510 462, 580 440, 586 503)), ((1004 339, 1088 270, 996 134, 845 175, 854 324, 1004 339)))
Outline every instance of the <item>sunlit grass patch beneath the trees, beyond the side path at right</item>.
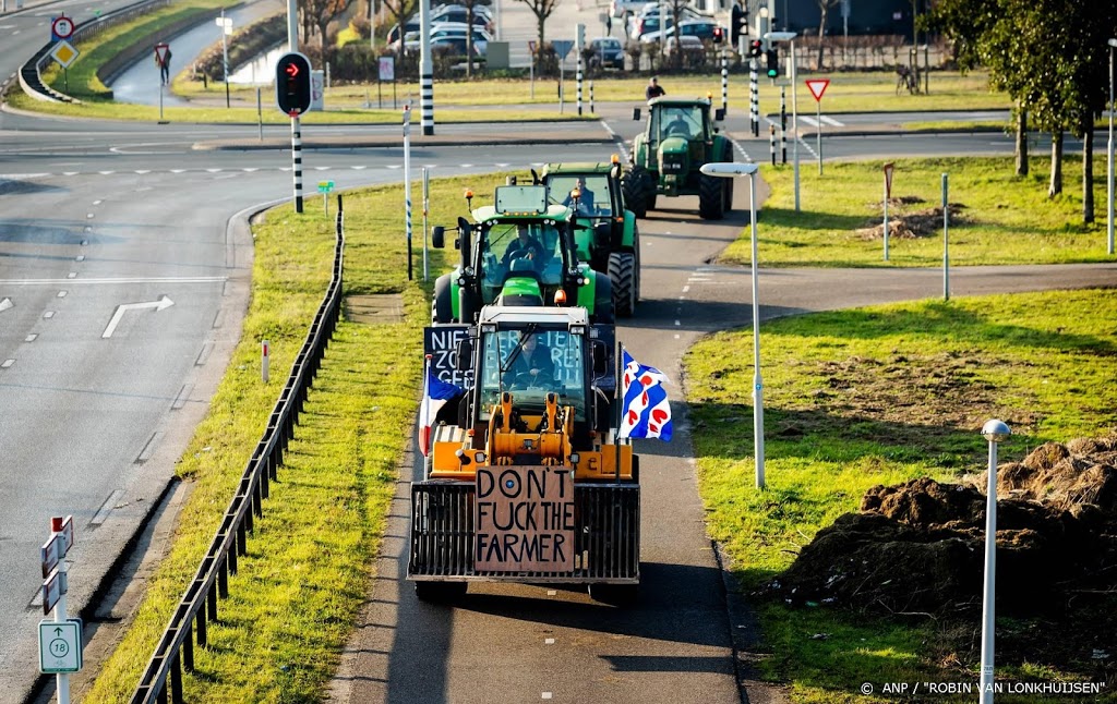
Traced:
MULTIPOLYGON (((823 142, 824 142, 823 137, 823 142)), ((825 144, 823 143, 823 151, 825 144)), ((922 237, 890 237, 884 261, 881 240, 884 160, 828 163, 819 176, 800 162, 800 209, 794 209, 791 165, 762 164, 771 186, 757 220, 763 267, 941 267, 943 262, 942 175, 948 174, 951 263, 1029 264, 1110 261, 1106 253, 1105 157, 1094 163, 1095 216, 1082 224, 1081 158, 1063 161, 1063 193, 1047 196, 1049 161, 1031 160, 1028 176, 1014 175, 1012 157, 895 160, 889 221, 939 209, 922 237), (899 204, 895 201, 908 199, 899 204), (866 232, 876 228, 875 234, 866 232)), ((747 183, 738 180, 734 205, 748 208, 747 183)), ((722 254, 726 263, 750 263, 750 230, 722 254)))

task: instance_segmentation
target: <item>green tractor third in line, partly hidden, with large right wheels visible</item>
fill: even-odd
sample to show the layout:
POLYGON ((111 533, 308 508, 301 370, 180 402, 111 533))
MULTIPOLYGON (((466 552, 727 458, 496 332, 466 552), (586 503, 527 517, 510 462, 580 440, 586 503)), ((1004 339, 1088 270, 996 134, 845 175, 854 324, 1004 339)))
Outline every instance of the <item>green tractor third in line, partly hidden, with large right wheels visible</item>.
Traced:
MULTIPOLYGON (((594 271, 609 276, 613 286, 613 309, 628 317, 640 300, 640 230, 636 214, 626 210, 621 165, 611 163, 547 164, 536 179, 551 199, 577 200, 574 241, 577 257, 594 271), (577 191, 577 195, 572 193, 577 191)), ((533 172, 534 175, 534 172, 533 172)))

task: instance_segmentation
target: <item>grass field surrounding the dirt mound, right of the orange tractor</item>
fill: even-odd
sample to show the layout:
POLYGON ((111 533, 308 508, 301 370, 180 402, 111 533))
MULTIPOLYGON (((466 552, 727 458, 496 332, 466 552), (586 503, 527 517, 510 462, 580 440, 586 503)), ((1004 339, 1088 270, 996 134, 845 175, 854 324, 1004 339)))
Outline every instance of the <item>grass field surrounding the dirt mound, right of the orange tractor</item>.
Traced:
MULTIPOLYGON (((985 419, 1013 430, 1001 461, 1048 441, 1117 428, 1117 296, 1057 291, 875 306, 761 329, 766 489, 755 489, 751 330, 710 336, 685 358, 699 485, 712 537, 742 588, 786 569, 876 484, 958 481, 984 469, 985 419)), ((764 602, 766 677, 796 702, 861 701, 862 682, 974 681, 971 633, 764 602), (814 634, 828 634, 813 638, 814 634), (958 644, 963 644, 961 647, 958 644)), ((1021 678, 1061 672, 997 660, 1021 678)), ((868 698, 863 701, 870 701, 868 698)))

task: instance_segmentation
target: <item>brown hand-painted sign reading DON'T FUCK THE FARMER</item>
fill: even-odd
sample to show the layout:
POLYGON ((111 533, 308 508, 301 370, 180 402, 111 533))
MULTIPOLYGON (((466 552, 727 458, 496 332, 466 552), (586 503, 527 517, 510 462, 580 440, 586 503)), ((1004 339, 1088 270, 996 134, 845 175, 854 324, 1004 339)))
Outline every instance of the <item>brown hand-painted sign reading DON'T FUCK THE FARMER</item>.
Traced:
POLYGON ((474 567, 574 571, 574 479, 561 466, 477 469, 474 567))

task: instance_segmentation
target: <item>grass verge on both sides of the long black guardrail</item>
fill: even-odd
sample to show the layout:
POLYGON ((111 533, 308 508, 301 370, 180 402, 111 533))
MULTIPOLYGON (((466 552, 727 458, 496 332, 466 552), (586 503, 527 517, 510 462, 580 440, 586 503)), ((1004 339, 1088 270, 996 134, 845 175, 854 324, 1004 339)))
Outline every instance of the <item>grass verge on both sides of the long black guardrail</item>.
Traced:
MULTIPOLYGON (((431 182, 432 222, 461 213, 466 186, 491 192, 502 175, 431 182)), ((343 320, 326 353, 265 502, 230 598, 194 652, 193 702, 317 701, 364 598, 397 465, 411 442, 428 291, 407 281, 401 186, 346 194, 345 295, 399 293, 402 322, 343 320)), ((178 467, 193 482, 171 553, 85 702, 126 701, 218 529, 289 373, 330 277, 333 226, 317 211, 268 211, 254 228, 256 262, 244 338, 206 421, 178 467), (271 343, 271 382, 258 370, 271 343)), ((421 272, 421 252, 417 271, 421 272)), ((443 253, 432 250, 431 271, 443 253)))

